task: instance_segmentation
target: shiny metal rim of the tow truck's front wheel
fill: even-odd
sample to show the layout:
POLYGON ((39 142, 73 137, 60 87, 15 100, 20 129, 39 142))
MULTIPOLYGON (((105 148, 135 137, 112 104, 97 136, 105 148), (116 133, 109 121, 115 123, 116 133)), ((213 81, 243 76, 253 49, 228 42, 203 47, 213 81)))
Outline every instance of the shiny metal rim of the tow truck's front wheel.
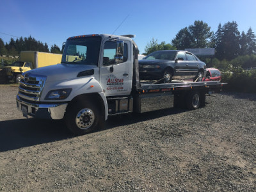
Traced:
POLYGON ((81 109, 76 115, 76 125, 79 129, 88 129, 95 121, 95 115, 91 109, 81 109))

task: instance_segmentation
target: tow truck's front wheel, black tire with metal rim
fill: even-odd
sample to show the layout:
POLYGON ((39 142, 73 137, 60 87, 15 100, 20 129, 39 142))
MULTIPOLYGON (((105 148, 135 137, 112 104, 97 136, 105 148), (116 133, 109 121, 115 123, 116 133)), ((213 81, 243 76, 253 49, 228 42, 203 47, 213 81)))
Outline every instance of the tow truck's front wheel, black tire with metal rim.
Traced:
POLYGON ((104 121, 97 105, 89 101, 73 103, 65 114, 67 128, 76 135, 97 131, 103 127, 104 121))

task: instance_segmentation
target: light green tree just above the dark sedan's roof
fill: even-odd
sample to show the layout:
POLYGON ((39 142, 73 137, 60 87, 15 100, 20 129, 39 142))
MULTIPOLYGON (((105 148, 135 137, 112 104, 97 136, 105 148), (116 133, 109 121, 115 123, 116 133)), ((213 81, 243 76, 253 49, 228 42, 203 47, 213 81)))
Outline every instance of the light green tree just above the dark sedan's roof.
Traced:
POLYGON ((146 45, 144 54, 147 55, 154 51, 172 50, 172 49, 176 49, 176 48, 173 47, 171 44, 166 44, 165 42, 161 42, 161 44, 158 44, 157 40, 152 38, 152 40, 150 40, 150 42, 146 45))

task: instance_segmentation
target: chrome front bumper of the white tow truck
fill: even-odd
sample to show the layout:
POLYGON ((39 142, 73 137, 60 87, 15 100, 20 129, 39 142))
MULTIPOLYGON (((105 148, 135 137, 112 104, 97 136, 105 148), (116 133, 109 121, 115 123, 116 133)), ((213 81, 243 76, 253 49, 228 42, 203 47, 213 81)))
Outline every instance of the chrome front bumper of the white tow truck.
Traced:
POLYGON ((16 97, 17 108, 23 116, 34 116, 43 119, 62 119, 64 117, 67 103, 61 104, 34 104, 21 100, 19 95, 16 97))

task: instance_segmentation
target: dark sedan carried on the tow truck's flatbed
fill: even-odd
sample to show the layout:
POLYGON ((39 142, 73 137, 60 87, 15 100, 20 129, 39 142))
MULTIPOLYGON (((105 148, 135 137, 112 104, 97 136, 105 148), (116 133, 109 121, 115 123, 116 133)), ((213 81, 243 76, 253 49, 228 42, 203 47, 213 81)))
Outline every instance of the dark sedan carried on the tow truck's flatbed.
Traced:
POLYGON ((188 51, 166 50, 148 54, 139 61, 140 78, 170 83, 172 79, 202 81, 206 65, 188 51))

